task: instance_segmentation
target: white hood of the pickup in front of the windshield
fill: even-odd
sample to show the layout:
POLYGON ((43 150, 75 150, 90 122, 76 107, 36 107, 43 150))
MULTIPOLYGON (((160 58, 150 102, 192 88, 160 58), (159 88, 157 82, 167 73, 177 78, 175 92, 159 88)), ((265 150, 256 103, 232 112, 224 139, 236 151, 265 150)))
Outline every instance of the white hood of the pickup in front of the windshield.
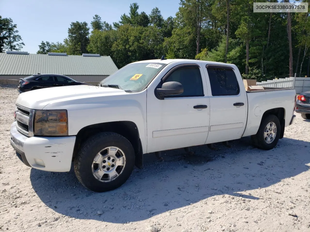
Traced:
POLYGON ((130 94, 122 89, 92 85, 61 86, 32 90, 20 93, 16 103, 34 110, 42 110, 46 105, 57 101, 85 99, 89 97, 130 94))

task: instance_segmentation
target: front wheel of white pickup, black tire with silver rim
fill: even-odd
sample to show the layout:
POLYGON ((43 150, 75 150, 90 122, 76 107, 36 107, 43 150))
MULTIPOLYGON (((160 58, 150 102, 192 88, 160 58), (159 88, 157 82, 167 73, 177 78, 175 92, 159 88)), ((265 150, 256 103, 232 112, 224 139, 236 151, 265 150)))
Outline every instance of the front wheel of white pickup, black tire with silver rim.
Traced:
POLYGON ((98 133, 86 140, 74 159, 76 177, 83 186, 95 192, 105 192, 120 187, 130 177, 134 166, 135 151, 131 143, 122 135, 113 132, 98 133), (113 151, 114 148, 115 150, 119 149, 115 152, 113 151), (103 155, 100 155, 99 152, 103 155), (113 153, 115 153, 114 156, 113 153), (97 159, 96 162, 102 166, 94 163, 95 158, 97 159), (123 162, 123 166, 118 165, 121 162, 123 162), (108 170, 109 168, 111 169, 108 170), (102 173, 105 174, 100 179, 102 173), (112 179, 113 177, 110 176, 112 174, 117 177, 112 179), (95 175, 99 177, 95 177, 95 175))

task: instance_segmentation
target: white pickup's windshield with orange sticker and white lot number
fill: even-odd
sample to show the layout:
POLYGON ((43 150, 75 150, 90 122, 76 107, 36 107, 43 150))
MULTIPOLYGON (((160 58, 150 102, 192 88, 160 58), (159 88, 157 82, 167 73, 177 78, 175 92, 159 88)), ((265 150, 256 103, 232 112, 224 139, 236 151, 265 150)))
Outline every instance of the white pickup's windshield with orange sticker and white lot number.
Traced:
POLYGON ((166 64, 163 63, 127 64, 102 80, 99 86, 113 88, 117 88, 118 86, 128 92, 140 92, 152 81, 154 76, 162 70, 165 65, 166 64))

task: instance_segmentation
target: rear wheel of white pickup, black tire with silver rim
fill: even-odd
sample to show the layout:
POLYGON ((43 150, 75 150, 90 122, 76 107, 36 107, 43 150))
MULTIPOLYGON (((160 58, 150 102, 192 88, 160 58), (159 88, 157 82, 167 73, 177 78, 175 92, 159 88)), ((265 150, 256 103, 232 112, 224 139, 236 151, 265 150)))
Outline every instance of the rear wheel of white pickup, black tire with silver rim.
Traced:
MULTIPOLYGON (((252 135, 251 139, 252 139, 253 145, 256 146, 257 148, 260 148, 262 150, 271 150, 277 145, 279 138, 280 138, 280 134, 281 134, 281 126, 280 126, 279 119, 277 118, 277 116, 273 114, 269 114, 265 118, 263 118, 256 135, 252 135), (268 141, 266 141, 268 140, 268 137, 265 138, 265 129, 267 129, 267 126, 268 125, 270 126, 271 123, 275 124, 276 133, 275 133, 274 138, 270 139, 271 137, 269 137, 271 141, 269 140, 269 143, 268 143, 268 141)), ((267 135, 271 136, 270 131, 267 132, 267 135)))

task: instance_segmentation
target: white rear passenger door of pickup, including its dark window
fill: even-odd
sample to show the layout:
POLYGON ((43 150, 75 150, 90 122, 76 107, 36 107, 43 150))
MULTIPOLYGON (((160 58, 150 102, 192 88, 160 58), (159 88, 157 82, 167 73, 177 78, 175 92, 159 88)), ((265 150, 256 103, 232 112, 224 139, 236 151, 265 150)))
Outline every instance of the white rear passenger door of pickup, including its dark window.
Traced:
POLYGON ((206 144, 240 139, 247 113, 246 91, 240 73, 221 65, 208 64, 204 70, 210 93, 210 129, 206 144))

